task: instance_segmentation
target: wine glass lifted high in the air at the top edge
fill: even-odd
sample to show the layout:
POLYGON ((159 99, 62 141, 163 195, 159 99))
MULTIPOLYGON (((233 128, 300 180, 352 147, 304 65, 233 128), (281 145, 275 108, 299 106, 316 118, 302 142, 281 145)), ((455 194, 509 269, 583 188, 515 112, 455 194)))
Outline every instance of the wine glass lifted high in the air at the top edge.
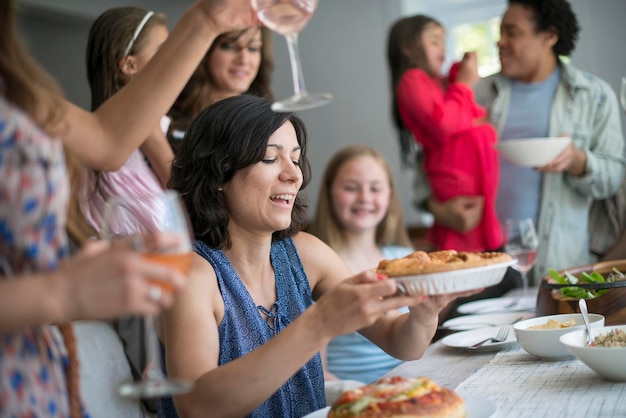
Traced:
POLYGON ((252 7, 259 20, 265 26, 279 33, 287 40, 294 95, 274 102, 275 112, 293 112, 312 109, 330 102, 329 93, 309 93, 304 87, 300 53, 298 51, 298 33, 304 28, 317 8, 317 0, 251 0, 252 7))

